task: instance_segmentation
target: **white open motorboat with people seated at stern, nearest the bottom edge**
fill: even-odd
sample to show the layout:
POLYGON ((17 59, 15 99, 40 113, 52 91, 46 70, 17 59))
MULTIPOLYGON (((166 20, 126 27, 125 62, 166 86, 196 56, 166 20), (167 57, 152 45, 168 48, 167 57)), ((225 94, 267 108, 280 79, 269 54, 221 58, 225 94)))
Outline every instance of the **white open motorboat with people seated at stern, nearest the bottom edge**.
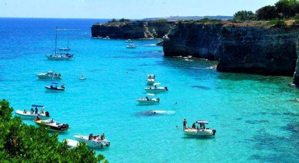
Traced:
POLYGON ((107 139, 101 140, 99 136, 94 136, 90 134, 89 136, 85 135, 74 135, 74 138, 78 139, 79 142, 85 142, 88 147, 100 148, 110 146, 110 142, 107 139))

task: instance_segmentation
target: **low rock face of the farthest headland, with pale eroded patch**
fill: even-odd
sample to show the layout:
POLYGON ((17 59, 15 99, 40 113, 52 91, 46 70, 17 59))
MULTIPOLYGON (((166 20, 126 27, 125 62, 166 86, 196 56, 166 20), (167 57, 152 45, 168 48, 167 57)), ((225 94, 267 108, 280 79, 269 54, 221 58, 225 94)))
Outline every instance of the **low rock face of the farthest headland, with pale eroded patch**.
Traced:
POLYGON ((158 21, 129 21, 94 24, 91 27, 92 37, 106 37, 116 39, 162 38, 173 22, 158 21))

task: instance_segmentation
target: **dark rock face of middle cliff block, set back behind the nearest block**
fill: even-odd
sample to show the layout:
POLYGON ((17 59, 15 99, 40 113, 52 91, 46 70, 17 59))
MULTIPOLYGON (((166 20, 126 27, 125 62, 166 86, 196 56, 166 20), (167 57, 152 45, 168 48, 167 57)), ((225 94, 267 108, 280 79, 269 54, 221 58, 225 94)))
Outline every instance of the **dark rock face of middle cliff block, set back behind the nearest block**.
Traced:
POLYGON ((218 60, 222 24, 178 22, 163 37, 165 56, 187 56, 218 60))

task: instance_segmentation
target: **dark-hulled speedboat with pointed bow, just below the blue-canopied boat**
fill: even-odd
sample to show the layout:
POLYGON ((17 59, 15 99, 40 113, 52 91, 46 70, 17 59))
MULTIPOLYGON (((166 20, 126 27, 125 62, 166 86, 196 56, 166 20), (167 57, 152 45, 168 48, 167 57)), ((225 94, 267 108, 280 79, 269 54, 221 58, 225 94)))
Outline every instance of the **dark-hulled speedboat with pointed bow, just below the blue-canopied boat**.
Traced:
POLYGON ((37 125, 44 123, 46 126, 50 127, 50 130, 53 131, 65 131, 69 129, 69 125, 67 123, 59 123, 52 119, 41 120, 39 117, 33 120, 37 125))

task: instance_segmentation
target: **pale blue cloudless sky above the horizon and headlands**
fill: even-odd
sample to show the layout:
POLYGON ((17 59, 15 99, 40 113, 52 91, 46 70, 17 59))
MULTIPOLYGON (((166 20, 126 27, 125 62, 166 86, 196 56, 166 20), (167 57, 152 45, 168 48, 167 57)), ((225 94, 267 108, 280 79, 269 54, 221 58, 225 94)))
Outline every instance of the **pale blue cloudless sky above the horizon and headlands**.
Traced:
POLYGON ((0 17, 147 18, 233 15, 277 0, 0 0, 0 17))

